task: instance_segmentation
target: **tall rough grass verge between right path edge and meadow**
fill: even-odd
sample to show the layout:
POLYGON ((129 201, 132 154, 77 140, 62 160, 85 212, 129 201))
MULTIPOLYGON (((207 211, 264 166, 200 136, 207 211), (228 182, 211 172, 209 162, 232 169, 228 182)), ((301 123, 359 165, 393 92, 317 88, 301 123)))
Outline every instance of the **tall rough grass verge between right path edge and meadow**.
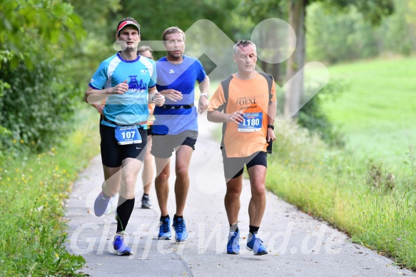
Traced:
POLYGON ((268 158, 268 189, 352 241, 416 270, 416 189, 409 183, 415 179, 402 173, 390 188, 381 166, 330 149, 293 122, 275 126, 279 143, 268 158))

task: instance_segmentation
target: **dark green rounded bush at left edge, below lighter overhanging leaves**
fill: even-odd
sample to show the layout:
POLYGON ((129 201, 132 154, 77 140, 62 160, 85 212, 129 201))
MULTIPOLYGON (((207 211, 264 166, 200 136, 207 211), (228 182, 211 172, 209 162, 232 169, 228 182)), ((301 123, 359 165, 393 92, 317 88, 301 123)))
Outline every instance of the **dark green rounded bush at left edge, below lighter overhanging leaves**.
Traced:
POLYGON ((68 131, 67 121, 81 102, 73 101, 79 91, 60 72, 58 59, 42 53, 31 56, 33 69, 21 62, 14 69, 3 64, 0 71, 0 79, 9 84, 0 97, 1 126, 11 131, 0 137, 6 148, 47 148, 68 131))

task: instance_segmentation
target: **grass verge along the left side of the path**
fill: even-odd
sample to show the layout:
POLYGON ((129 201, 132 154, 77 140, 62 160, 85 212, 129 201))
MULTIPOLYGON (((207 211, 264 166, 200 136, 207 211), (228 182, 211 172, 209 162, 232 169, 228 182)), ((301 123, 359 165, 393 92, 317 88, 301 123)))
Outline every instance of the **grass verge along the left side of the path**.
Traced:
MULTIPOLYGON (((89 108, 89 109, 88 109, 89 108)), ((62 143, 28 156, 4 153, 0 164, 0 275, 77 276, 85 260, 65 247, 65 199, 78 171, 98 153, 98 116, 76 115, 62 143)), ((19 142, 17 142, 19 143, 19 142)))

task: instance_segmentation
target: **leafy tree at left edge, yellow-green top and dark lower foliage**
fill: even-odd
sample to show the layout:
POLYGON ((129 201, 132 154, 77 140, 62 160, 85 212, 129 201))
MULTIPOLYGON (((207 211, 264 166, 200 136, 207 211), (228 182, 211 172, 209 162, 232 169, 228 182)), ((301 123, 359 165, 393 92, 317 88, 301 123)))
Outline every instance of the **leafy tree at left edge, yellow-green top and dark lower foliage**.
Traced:
POLYGON ((85 34, 81 19, 71 4, 49 0, 6 0, 0 16, 0 122, 11 132, 0 144, 47 147, 74 109, 62 59, 85 34))

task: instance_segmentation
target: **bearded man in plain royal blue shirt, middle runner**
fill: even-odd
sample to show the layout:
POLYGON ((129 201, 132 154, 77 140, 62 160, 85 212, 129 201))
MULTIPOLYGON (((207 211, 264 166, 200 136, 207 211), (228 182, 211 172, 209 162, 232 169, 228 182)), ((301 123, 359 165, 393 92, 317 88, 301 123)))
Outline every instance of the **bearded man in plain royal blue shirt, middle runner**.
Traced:
POLYGON ((170 161, 176 151, 176 213, 173 229, 176 241, 186 241, 188 231, 183 220, 186 196, 188 195, 188 168, 198 137, 198 112, 208 108, 209 79, 198 59, 186 56, 185 34, 178 27, 169 27, 162 34, 167 56, 156 61, 157 89, 166 97, 163 106, 155 108, 151 153, 156 161, 156 194, 161 208, 161 225, 158 238, 171 239, 171 218, 168 213, 170 161), (198 111, 193 102, 195 84, 201 91, 198 111))

